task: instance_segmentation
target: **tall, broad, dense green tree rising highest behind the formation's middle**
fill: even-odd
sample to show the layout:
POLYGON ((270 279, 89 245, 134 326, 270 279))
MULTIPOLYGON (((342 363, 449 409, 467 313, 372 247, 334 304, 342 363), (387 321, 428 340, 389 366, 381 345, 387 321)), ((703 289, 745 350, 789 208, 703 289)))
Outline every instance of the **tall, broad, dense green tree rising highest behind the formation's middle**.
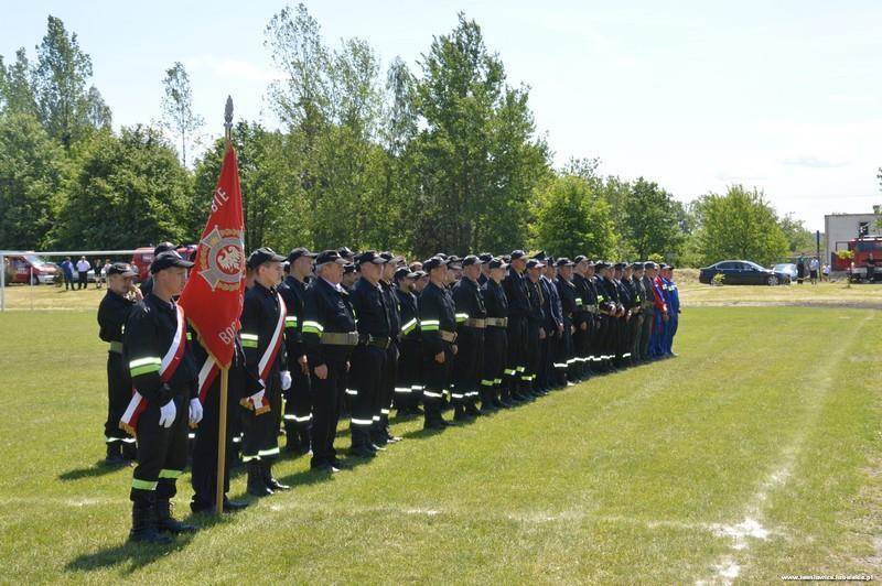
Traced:
POLYGON ((505 85, 502 61, 463 14, 433 40, 420 66, 411 248, 428 254, 523 246, 530 194, 549 173, 527 88, 505 85))

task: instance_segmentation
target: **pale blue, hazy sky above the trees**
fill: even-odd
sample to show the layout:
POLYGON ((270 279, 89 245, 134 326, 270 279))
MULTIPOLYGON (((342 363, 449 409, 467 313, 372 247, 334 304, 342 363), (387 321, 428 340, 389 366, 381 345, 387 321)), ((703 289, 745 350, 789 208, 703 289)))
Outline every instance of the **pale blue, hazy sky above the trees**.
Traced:
MULTIPOLYGON (((191 75, 196 109, 222 131, 236 116, 277 122, 265 96, 278 76, 263 29, 277 1, 7 4, 0 54, 33 47, 47 14, 92 55, 115 126, 160 115, 163 72, 191 75)), ((463 11, 530 86, 555 161, 599 156, 601 172, 645 176, 682 200, 731 183, 764 189, 810 229, 824 215, 882 203, 882 2, 872 1, 310 1, 327 44, 362 37, 384 65, 413 69, 432 35, 463 11)))

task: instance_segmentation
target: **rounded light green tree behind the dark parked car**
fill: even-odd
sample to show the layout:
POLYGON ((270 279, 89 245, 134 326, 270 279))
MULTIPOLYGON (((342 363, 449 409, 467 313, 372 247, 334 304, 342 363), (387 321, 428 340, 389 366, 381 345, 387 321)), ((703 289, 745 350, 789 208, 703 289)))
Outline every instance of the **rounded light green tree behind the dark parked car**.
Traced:
POLYGON ((697 203, 695 250, 702 264, 723 259, 771 264, 787 254, 787 238, 763 192, 732 185, 697 203))

